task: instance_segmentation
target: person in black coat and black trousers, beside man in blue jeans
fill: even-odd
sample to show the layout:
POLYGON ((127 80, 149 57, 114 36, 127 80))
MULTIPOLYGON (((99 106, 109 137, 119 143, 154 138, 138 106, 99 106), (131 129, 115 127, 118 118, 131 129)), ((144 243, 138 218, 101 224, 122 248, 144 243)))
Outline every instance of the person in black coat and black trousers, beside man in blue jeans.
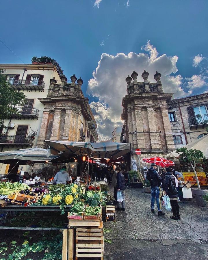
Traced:
POLYGON ((173 212, 173 216, 170 217, 171 219, 174 220, 180 220, 180 213, 179 213, 179 205, 178 205, 178 194, 176 192, 172 192, 171 189, 171 182, 173 183, 174 187, 176 186, 175 184, 175 178, 174 175, 172 174, 172 169, 171 168, 166 168, 166 173, 164 174, 165 178, 163 181, 163 190, 164 190, 164 194, 167 194, 170 198, 170 204, 172 207, 172 212, 173 212))

